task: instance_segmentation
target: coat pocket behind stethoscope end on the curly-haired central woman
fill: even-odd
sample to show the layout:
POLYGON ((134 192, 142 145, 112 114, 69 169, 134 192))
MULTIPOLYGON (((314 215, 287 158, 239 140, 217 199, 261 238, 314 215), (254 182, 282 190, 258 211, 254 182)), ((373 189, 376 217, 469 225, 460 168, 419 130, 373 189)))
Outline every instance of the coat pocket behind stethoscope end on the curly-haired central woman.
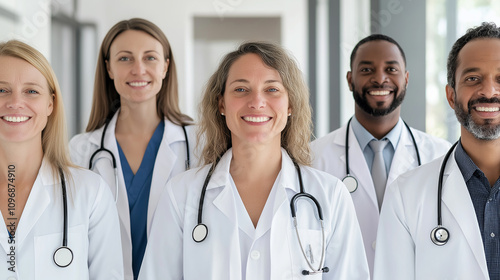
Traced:
MULTIPOLYGON (((295 228, 290 231, 290 241, 291 252, 292 252, 292 269, 294 279, 322 279, 322 274, 313 274, 312 271, 316 271, 324 267, 321 257, 323 253, 323 235, 321 230, 312 230, 298 228, 298 233, 300 237, 297 238, 297 233, 295 228), (304 256, 305 255, 305 256, 304 256), (308 263, 309 262, 309 263, 308 263), (309 266, 309 264, 312 266, 309 266), (310 272, 309 275, 303 275, 303 271, 310 272)), ((325 232, 326 234, 326 232, 325 232)), ((325 236, 326 238, 326 236, 325 236)), ((326 244, 325 244, 326 245, 326 244)), ((325 252, 326 256, 326 252, 325 252)))

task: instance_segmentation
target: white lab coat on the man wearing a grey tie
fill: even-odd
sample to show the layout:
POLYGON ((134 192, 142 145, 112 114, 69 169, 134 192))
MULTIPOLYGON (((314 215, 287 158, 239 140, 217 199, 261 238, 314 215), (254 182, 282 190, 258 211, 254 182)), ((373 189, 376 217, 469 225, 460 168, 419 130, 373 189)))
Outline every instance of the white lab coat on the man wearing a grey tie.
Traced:
MULTIPOLYGON (((402 122, 401 119, 399 121, 402 122)), ((340 179, 343 179, 346 175, 346 128, 347 125, 344 125, 311 143, 311 149, 314 154, 313 167, 340 179)), ((418 145, 422 164, 443 155, 451 147, 451 144, 443 139, 413 128, 411 130, 418 145)), ((417 166, 418 160, 415 146, 413 145, 408 129, 403 127, 387 177, 387 185, 394 181, 400 174, 417 166)), ((352 131, 352 126, 349 129, 349 168, 351 175, 358 180, 358 189, 351 193, 351 197, 356 208, 361 233, 363 234, 368 265, 370 266, 371 273, 373 273, 379 208, 370 169, 366 164, 358 140, 352 131)))

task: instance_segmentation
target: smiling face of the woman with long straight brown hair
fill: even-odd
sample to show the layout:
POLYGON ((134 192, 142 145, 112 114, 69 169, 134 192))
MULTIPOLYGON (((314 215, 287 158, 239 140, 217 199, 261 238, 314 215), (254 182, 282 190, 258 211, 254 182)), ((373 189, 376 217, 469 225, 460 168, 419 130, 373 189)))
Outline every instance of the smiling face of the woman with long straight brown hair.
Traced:
POLYGON ((115 38, 106 65, 122 104, 156 100, 168 69, 164 57, 160 42, 145 32, 127 30, 115 38))

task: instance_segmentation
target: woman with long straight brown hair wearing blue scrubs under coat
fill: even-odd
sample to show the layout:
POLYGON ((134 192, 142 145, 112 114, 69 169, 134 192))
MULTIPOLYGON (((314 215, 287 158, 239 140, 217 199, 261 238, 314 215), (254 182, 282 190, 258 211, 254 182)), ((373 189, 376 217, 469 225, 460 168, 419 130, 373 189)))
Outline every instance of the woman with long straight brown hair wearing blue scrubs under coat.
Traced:
POLYGON ((195 126, 178 98, 174 57, 161 29, 140 18, 113 26, 100 50, 87 132, 71 140, 70 152, 75 164, 89 168, 97 150, 110 151, 96 154, 91 170, 116 200, 127 280, 137 279, 167 180, 198 164, 195 126))

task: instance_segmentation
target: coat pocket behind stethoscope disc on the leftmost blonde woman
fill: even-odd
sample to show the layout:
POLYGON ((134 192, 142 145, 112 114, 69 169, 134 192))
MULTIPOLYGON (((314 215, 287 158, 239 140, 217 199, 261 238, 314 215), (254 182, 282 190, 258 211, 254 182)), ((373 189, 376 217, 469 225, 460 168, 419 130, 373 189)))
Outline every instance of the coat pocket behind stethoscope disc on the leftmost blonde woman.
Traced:
POLYGON ((54 262, 54 252, 62 246, 62 232, 35 237, 35 279, 88 279, 88 238, 84 225, 68 228, 68 248, 73 261, 67 267, 54 262))

